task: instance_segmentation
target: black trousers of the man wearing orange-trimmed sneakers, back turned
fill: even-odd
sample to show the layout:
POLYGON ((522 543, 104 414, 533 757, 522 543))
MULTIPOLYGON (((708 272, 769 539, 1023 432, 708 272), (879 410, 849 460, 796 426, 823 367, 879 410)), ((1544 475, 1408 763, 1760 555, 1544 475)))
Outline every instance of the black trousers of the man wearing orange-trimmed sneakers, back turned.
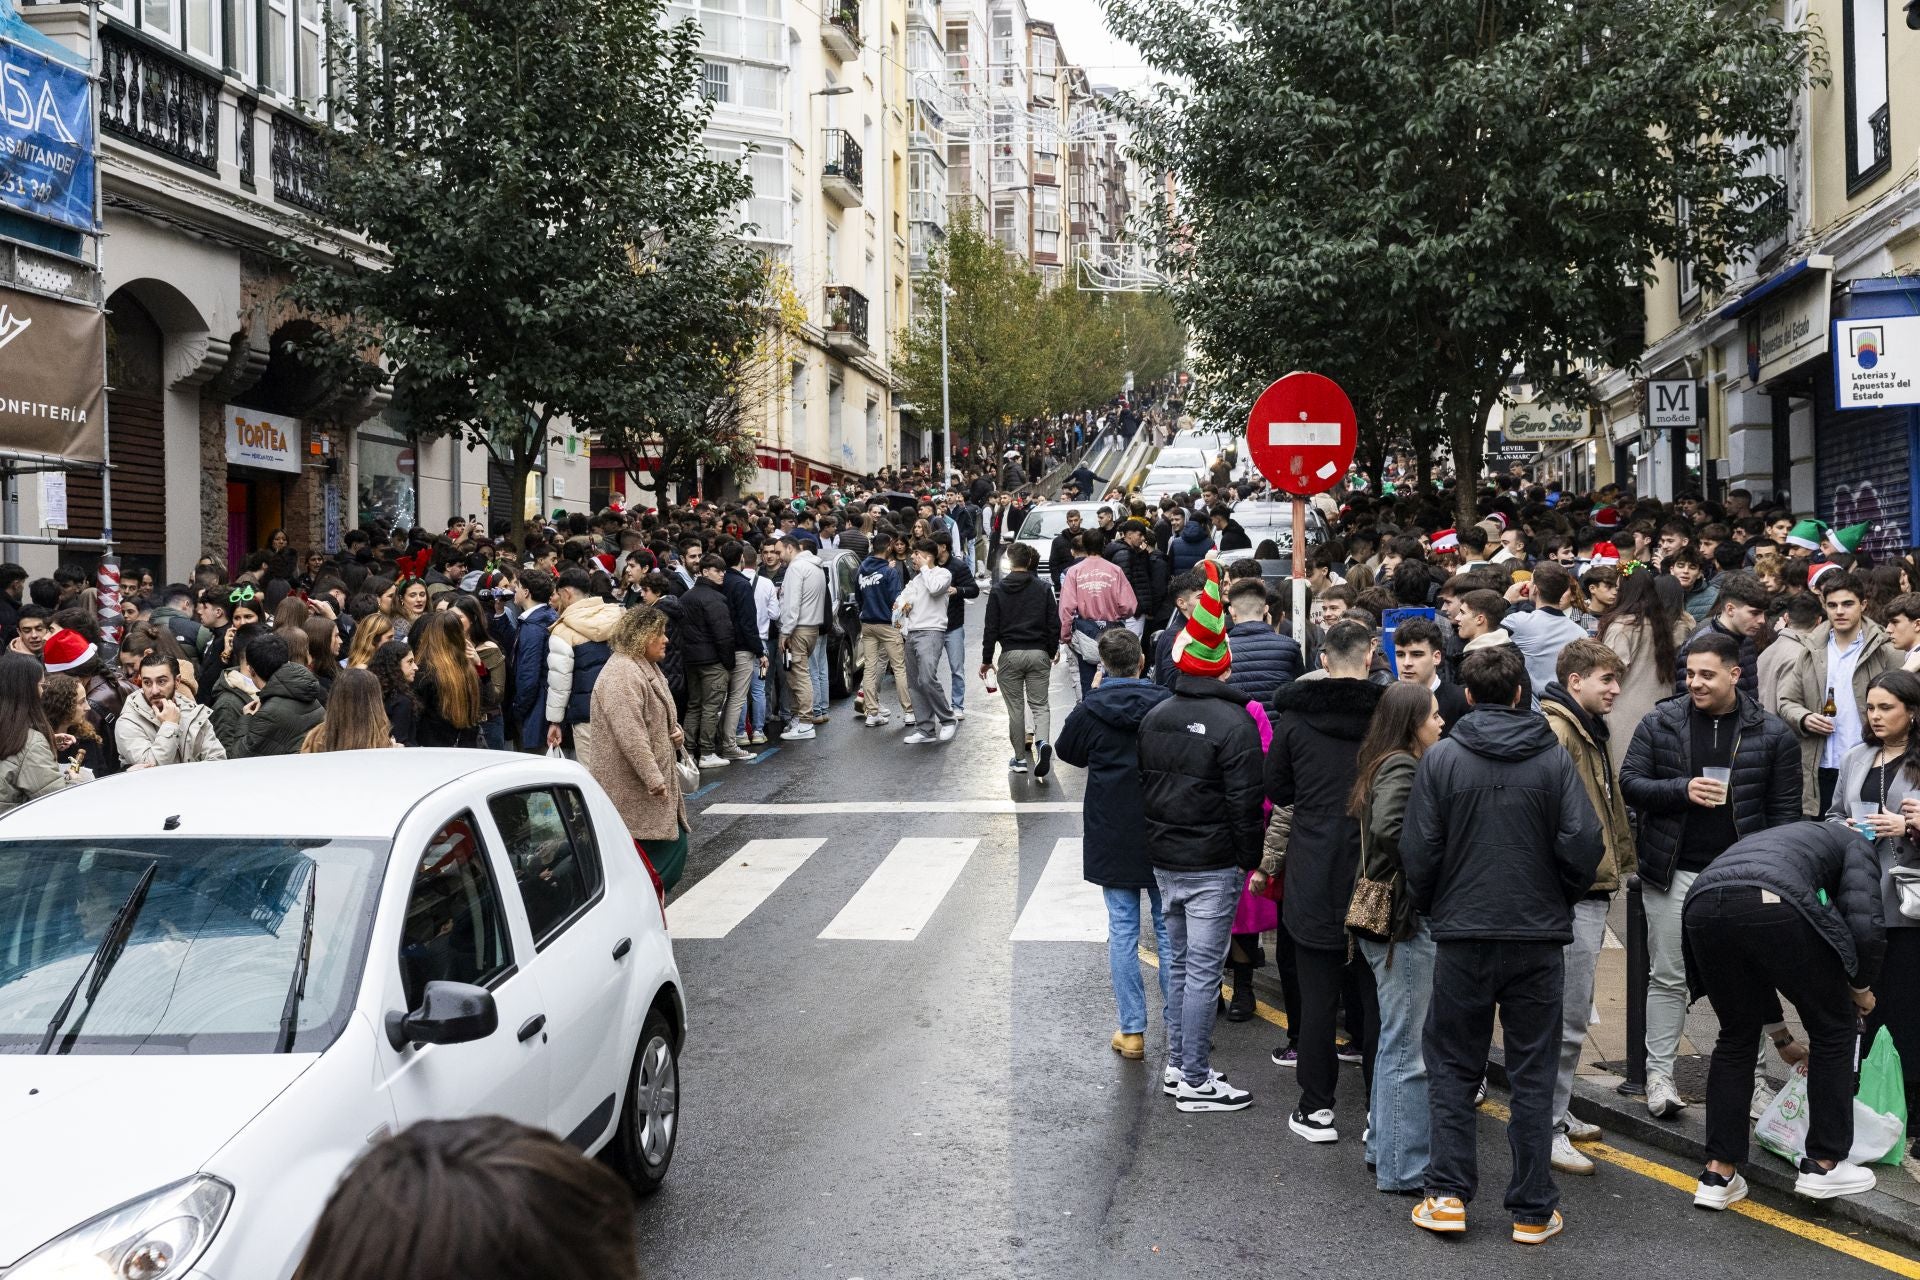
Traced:
MULTIPOLYGON (((1555 942, 1440 942, 1427 1006, 1427 1102, 1432 1111, 1428 1196, 1471 1201, 1478 1188, 1473 1094, 1486 1075, 1494 1013, 1507 1050, 1513 1109, 1507 1150, 1515 1222, 1546 1222, 1553 1186, 1553 1080, 1559 1075, 1565 952, 1555 942)), ((1753 1071, 1749 1067, 1747 1075, 1753 1071)))

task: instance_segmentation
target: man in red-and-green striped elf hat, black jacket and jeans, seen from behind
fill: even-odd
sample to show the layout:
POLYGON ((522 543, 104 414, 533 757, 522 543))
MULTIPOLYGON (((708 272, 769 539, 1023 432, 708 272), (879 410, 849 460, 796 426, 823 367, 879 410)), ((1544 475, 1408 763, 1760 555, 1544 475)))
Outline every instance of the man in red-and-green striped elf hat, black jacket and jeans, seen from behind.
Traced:
POLYGON ((1173 697, 1140 722, 1146 858, 1167 921, 1167 1065, 1164 1088, 1181 1111, 1240 1111, 1254 1098, 1213 1071, 1213 1009, 1233 912, 1260 865, 1260 731, 1233 670, 1219 566, 1175 643, 1173 697))

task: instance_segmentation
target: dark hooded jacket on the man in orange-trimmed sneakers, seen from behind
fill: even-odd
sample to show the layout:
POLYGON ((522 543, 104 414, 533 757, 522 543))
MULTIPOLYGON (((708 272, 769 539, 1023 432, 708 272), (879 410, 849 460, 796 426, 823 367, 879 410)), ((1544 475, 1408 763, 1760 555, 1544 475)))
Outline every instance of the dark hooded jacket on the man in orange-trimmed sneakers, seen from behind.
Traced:
POLYGON ((1480 706, 1421 756, 1400 865, 1436 942, 1572 942, 1599 854, 1586 787, 1538 712, 1480 706))

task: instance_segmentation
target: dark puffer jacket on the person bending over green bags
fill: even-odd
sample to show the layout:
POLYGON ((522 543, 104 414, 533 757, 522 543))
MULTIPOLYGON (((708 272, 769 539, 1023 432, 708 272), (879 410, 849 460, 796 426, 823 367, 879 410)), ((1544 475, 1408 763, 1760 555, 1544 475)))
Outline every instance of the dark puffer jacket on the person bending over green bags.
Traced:
POLYGON ((1693 881, 1688 904, 1709 889, 1728 885, 1753 885, 1789 902, 1839 954, 1855 986, 1872 986, 1880 977, 1880 958, 1887 948, 1880 864, 1874 842, 1862 841, 1851 827, 1795 821, 1734 841, 1693 881), (1822 889, 1826 902, 1820 902, 1822 889))

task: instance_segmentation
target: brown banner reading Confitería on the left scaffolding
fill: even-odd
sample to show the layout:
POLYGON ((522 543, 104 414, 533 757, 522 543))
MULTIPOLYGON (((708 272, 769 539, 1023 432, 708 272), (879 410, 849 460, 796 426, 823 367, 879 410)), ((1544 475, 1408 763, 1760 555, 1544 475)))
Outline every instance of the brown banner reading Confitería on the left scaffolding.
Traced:
POLYGON ((0 284, 0 449, 106 459, 106 313, 0 284))

